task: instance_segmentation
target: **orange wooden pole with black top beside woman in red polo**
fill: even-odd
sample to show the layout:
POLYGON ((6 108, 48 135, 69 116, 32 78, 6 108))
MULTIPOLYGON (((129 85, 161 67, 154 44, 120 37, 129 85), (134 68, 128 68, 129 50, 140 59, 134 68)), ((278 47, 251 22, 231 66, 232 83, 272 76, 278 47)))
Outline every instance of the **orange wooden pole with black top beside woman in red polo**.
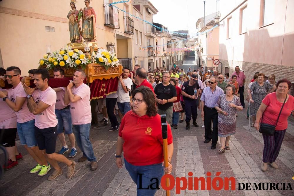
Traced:
MULTIPOLYGON (((164 167, 168 167, 168 152, 167 152, 167 123, 166 115, 160 115, 161 117, 161 130, 162 130, 162 141, 163 141, 163 158, 164 158, 164 167)), ((166 178, 166 186, 169 187, 169 180, 166 178)), ((169 196, 169 190, 166 190, 166 196, 169 196)))

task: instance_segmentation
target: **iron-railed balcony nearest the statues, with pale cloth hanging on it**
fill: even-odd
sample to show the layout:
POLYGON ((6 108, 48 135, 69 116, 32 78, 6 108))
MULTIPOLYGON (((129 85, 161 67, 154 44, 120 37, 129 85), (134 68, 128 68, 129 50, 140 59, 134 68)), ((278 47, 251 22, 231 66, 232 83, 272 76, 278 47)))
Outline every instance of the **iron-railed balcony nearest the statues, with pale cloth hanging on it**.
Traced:
POLYGON ((119 11, 113 11, 113 6, 110 4, 103 4, 104 12, 104 26, 108 26, 112 29, 119 29, 119 11))

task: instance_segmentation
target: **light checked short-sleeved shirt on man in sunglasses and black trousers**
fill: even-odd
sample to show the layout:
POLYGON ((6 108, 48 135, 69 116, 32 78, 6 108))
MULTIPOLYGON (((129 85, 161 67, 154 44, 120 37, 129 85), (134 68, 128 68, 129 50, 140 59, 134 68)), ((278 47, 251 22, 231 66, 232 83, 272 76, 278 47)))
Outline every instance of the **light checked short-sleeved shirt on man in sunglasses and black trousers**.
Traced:
POLYGON ((216 106, 216 102, 218 101, 218 98, 223 95, 223 89, 216 86, 216 89, 211 92, 210 87, 204 88, 201 98, 201 101, 204 101, 204 105, 208 108, 214 108, 216 106))

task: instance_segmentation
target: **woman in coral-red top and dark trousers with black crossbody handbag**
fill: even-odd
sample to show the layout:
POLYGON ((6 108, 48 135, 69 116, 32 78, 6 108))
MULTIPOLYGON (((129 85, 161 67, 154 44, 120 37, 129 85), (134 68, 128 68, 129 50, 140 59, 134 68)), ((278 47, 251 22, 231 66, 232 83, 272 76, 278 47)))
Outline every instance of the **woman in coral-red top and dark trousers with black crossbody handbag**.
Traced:
POLYGON ((275 160, 288 127, 287 118, 291 113, 294 115, 294 97, 288 94, 290 88, 289 80, 278 81, 277 92, 265 96, 257 111, 254 127, 262 133, 264 141, 262 171, 267 170, 268 164, 278 169, 275 160))

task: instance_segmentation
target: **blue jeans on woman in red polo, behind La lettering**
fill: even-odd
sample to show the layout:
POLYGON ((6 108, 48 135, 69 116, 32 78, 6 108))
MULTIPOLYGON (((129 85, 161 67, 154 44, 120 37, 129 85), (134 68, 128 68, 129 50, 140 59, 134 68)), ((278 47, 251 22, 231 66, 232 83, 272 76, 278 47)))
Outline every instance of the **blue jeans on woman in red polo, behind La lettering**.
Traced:
MULTIPOLYGON (((150 186, 150 184, 153 184, 156 182, 155 179, 152 181, 151 178, 157 178, 158 179, 158 186, 160 185, 161 177, 163 176, 163 166, 162 163, 159 164, 153 164, 153 165, 144 165, 144 166, 135 166, 131 163, 128 163, 125 161, 126 170, 129 172, 131 178, 137 185, 137 195, 140 196, 151 196, 155 195, 157 189, 139 189, 141 188, 147 188, 150 186), (140 174, 140 175, 139 175, 140 174), (140 183, 141 182, 141 183, 140 183)), ((153 188, 155 188, 156 184, 152 185, 153 188)))

